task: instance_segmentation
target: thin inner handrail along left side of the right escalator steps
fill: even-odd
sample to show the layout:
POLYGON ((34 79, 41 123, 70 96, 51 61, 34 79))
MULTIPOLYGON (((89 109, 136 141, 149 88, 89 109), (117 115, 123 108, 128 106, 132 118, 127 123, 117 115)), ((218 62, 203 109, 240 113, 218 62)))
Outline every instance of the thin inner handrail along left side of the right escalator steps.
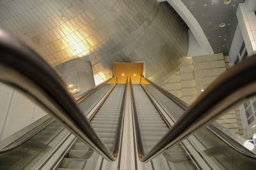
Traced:
POLYGON ((132 104, 132 114, 133 114, 133 119, 134 119, 134 128, 135 128, 135 136, 136 136, 136 143, 137 143, 137 151, 138 151, 138 157, 141 159, 144 157, 145 152, 142 144, 142 139, 141 139, 141 132, 140 132, 140 125, 139 125, 139 120, 138 120, 138 113, 136 110, 136 104, 134 100, 134 94, 132 90, 132 81, 130 77, 130 86, 131 86, 131 104, 132 104))

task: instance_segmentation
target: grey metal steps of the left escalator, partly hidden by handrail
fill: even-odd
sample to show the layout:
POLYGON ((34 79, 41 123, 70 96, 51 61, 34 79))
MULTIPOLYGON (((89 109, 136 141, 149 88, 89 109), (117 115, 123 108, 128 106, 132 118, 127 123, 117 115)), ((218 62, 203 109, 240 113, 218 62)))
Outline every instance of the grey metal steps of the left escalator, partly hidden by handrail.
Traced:
MULTIPOLYGON (((90 120, 93 130, 112 152, 114 152, 115 144, 118 144, 116 134, 123 104, 120 98, 124 97, 124 93, 125 84, 117 84, 90 120)), ((58 169, 93 169, 92 164, 86 164, 92 155, 93 150, 77 139, 58 169)))

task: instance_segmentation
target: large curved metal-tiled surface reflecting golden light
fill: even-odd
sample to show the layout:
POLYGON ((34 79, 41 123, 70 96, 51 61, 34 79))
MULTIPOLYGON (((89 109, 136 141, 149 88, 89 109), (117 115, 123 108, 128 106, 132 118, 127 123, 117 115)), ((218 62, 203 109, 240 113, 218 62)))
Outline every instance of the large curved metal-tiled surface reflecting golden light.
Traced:
POLYGON ((188 52, 186 24, 168 3, 6 0, 0 8, 0 26, 52 66, 84 57, 102 79, 112 75, 113 62, 145 61, 146 77, 161 82, 188 52))

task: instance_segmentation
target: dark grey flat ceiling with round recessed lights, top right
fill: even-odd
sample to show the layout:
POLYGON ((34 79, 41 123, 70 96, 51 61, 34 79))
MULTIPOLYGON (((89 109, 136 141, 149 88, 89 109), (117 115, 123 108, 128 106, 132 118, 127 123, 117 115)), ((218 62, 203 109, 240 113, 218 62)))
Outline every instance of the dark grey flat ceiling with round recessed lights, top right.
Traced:
POLYGON ((214 53, 228 55, 237 26, 236 11, 244 0, 181 0, 202 27, 214 53), (225 23, 224 27, 220 27, 225 23))

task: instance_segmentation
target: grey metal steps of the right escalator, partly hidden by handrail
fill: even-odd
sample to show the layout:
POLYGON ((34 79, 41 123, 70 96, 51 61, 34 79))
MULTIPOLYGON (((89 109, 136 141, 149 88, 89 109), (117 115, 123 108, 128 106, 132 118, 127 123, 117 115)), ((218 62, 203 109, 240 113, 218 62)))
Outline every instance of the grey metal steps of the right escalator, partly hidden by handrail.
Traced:
MULTIPOLYGON (((138 116, 143 154, 147 154, 163 135, 168 132, 171 126, 170 123, 166 122, 159 109, 156 108, 156 105, 150 100, 140 84, 132 85, 132 94, 138 116)), ((168 104, 175 105, 170 101, 168 104)), ((166 151, 163 155, 166 158, 166 162, 168 164, 175 164, 177 169, 195 169, 188 153, 184 151, 181 145, 174 146, 172 151, 166 151)))

